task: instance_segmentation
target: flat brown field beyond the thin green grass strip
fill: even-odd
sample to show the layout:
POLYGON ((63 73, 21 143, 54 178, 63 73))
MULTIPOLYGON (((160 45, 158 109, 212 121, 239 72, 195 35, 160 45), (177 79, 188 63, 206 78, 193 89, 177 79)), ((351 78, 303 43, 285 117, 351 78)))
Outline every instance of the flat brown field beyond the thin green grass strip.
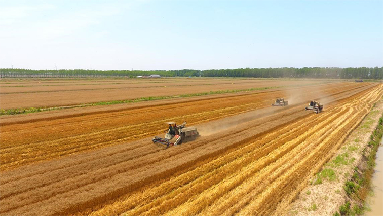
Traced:
POLYGON ((0 82, 0 109, 56 107, 100 101, 129 100, 141 97, 177 96, 210 91, 309 85, 323 81, 267 81, 239 79, 142 79, 0 82))

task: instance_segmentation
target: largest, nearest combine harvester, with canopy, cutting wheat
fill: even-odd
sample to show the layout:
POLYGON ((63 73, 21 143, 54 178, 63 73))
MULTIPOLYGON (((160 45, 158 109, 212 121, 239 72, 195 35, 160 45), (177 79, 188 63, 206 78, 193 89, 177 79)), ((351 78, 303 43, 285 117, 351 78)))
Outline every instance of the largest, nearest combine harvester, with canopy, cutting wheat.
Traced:
POLYGON ((175 122, 165 122, 169 125, 169 129, 165 130, 165 138, 156 136, 152 139, 153 143, 158 143, 165 148, 177 146, 183 142, 191 141, 199 136, 196 127, 185 127, 186 122, 178 125, 175 122))

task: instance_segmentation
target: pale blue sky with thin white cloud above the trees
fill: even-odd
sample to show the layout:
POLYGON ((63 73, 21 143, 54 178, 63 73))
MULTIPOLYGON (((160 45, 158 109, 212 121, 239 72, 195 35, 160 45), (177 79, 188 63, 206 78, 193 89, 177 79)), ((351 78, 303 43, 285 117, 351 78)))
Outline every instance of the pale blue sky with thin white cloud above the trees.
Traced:
POLYGON ((383 1, 0 0, 0 68, 383 66, 383 1))

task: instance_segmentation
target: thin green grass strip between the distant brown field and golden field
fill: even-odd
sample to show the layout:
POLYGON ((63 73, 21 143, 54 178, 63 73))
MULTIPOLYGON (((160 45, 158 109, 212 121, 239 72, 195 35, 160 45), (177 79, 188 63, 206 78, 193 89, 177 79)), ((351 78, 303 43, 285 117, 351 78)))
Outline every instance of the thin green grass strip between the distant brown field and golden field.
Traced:
POLYGON ((75 108, 75 107, 114 105, 114 104, 122 104, 122 103, 137 103, 137 102, 143 102, 143 101, 164 100, 164 99, 172 99, 172 98, 197 97, 197 96, 215 95, 215 94, 259 91, 259 90, 277 89, 277 88, 283 88, 283 87, 286 87, 286 86, 248 88, 248 89, 236 89, 236 90, 219 90, 219 91, 209 91, 209 92, 201 92, 201 93, 193 93, 193 94, 180 94, 180 95, 174 95, 174 96, 141 97, 141 98, 136 98, 136 99, 131 99, 131 100, 101 101, 101 102, 82 103, 82 104, 78 104, 78 105, 61 106, 61 107, 37 107, 37 108, 29 107, 29 108, 25 108, 25 109, 9 109, 9 110, 0 110, 0 116, 26 114, 26 113, 37 113, 37 112, 51 111, 51 110, 70 109, 70 108, 75 108))

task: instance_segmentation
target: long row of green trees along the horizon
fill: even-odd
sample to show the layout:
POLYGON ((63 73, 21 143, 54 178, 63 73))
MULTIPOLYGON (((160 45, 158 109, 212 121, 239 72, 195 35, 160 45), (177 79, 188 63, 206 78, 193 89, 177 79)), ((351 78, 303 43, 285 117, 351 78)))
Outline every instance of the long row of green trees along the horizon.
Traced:
POLYGON ((0 69, 0 77, 137 77, 158 74, 162 77, 254 77, 254 78, 333 78, 383 79, 383 67, 283 67, 214 70, 28 70, 0 69))

